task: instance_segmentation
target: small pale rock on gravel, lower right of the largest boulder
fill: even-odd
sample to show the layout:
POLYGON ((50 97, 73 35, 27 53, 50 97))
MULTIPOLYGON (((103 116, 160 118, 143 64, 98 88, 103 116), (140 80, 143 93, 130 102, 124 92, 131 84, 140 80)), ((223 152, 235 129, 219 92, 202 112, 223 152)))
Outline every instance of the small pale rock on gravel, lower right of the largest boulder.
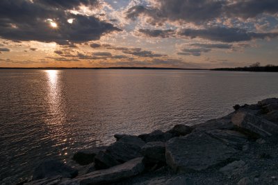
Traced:
POLYGON ((224 173, 224 175, 240 175, 245 170, 247 170, 247 166, 244 161, 234 161, 227 166, 220 168, 220 172, 224 173))

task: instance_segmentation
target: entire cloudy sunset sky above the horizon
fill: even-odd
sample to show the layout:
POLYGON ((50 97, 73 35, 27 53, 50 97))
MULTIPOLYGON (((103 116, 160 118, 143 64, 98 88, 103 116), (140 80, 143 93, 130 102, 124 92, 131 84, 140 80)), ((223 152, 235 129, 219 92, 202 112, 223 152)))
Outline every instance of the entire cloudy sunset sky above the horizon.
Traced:
POLYGON ((1 0, 0 67, 278 65, 277 0, 1 0))

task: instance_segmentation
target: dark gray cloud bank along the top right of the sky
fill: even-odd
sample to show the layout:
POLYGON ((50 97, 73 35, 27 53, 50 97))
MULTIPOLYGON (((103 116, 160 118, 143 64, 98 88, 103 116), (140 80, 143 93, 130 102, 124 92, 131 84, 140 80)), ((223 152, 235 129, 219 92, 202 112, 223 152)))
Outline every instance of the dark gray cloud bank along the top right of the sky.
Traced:
POLYGON ((156 6, 133 6, 126 11, 126 18, 148 17, 150 24, 163 21, 186 21, 202 24, 215 18, 249 18, 262 13, 278 12, 277 0, 152 0, 156 6))

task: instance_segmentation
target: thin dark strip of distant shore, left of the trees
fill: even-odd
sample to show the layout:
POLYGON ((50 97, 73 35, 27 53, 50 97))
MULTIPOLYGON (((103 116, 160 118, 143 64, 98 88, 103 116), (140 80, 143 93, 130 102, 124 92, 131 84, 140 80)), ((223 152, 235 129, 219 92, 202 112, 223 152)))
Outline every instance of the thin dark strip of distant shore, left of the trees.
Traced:
POLYGON ((210 70, 167 67, 0 67, 0 69, 154 69, 154 70, 210 70))

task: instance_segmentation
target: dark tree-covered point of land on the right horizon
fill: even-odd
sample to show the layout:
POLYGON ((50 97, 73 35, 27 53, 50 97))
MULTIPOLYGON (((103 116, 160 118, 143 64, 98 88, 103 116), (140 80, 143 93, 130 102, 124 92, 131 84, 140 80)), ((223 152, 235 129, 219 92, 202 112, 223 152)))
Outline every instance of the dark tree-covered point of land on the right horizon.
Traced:
POLYGON ((234 67, 234 68, 217 68, 211 69, 213 71, 255 71, 255 72, 278 72, 278 66, 273 64, 267 64, 265 66, 261 66, 260 62, 255 62, 251 64, 249 67, 234 67))

